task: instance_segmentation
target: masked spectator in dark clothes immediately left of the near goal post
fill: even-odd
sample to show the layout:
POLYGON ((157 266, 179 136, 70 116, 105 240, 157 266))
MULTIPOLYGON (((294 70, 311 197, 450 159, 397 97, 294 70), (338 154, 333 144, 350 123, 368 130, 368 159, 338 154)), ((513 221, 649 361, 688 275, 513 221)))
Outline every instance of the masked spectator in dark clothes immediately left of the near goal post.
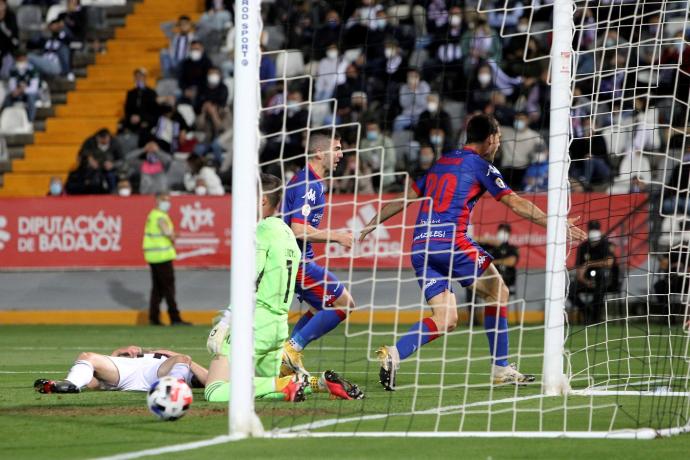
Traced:
POLYGON ((209 140, 215 139, 228 129, 230 117, 228 111, 228 87, 221 80, 220 69, 211 67, 206 84, 199 91, 196 111, 197 129, 206 133, 209 140))

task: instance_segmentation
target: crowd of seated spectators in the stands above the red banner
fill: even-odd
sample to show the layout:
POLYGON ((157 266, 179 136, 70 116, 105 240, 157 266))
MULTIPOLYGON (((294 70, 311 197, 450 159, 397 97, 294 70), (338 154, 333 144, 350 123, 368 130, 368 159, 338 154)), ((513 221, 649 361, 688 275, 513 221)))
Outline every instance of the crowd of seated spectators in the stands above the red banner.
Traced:
MULTIPOLYGON (((154 193, 159 187, 229 190, 233 3, 208 0, 198 21, 181 16, 161 24, 169 37, 160 52, 161 79, 151 81, 147 69, 135 71, 118 132, 107 135, 116 147, 106 149, 105 133, 94 133, 79 153, 74 176, 90 177, 97 163, 102 180, 96 182, 103 193, 116 193, 121 180, 134 193, 154 193)), ((344 177, 333 190, 396 191, 406 174, 423 172, 443 151, 462 144, 469 116, 488 113, 502 127, 496 163, 506 181, 518 191, 545 191, 551 87, 548 60, 537 58, 549 54, 551 34, 524 32, 551 27, 551 3, 485 1, 488 9, 507 8, 480 14, 474 0, 264 2, 264 169, 289 178, 304 162, 309 129, 337 124, 346 158, 335 171, 344 177), (366 177, 350 180, 355 172, 366 177)), ((650 76, 619 70, 626 63, 644 67, 654 60, 687 66, 685 31, 664 28, 668 40, 659 49, 632 50, 630 43, 656 37, 662 19, 654 11, 658 6, 650 5, 642 15, 648 27, 634 27, 627 19, 634 7, 623 1, 576 12, 576 22, 585 26, 620 19, 617 27, 583 27, 576 37, 577 84, 570 114, 570 177, 576 190, 643 191, 653 179, 666 180, 664 165, 653 153, 667 144, 685 145, 682 136, 668 139, 655 126, 683 124, 685 132, 682 111, 674 113, 664 96, 682 99, 690 77, 664 70, 653 97, 641 97, 633 89, 650 76), (591 76, 594 70, 599 77, 591 76)), ((5 106, 24 104, 32 119, 41 81, 56 75, 73 78, 69 53, 75 40, 85 40, 84 20, 79 0, 70 0, 49 22, 49 34, 31 38, 30 49, 24 49, 13 13, 0 0, 2 70, 9 78, 5 106)))

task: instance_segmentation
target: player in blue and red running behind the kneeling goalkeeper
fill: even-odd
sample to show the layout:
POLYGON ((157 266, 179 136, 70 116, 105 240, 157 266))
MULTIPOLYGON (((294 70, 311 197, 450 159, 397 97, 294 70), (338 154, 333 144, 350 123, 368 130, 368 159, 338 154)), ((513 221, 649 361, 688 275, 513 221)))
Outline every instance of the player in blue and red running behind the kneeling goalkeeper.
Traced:
POLYGON ((283 219, 292 228, 303 248, 303 260, 297 269, 296 292, 310 309, 297 322, 285 344, 281 374, 302 372, 302 350, 312 341, 333 330, 355 304, 338 279, 314 262, 312 243, 336 242, 346 249, 353 243, 352 232, 319 230, 326 205, 323 178, 342 158, 340 136, 312 134, 309 139, 307 166, 286 187, 283 219))

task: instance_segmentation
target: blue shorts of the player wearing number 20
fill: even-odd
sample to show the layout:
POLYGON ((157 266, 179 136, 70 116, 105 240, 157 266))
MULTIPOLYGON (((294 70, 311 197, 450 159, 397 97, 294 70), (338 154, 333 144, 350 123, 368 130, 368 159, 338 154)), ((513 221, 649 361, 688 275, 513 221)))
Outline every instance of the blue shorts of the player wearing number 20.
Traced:
POLYGON ((427 301, 446 289, 454 292, 452 281, 458 281, 462 287, 471 286, 493 260, 491 254, 470 239, 445 250, 430 246, 427 252, 424 244, 415 246, 412 266, 427 301))

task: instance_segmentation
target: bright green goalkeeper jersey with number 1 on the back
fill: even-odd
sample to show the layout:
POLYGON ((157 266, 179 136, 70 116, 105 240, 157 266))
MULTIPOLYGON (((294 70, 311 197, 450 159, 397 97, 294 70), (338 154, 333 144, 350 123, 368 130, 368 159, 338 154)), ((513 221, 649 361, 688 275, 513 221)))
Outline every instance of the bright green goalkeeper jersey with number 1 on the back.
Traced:
POLYGON ((256 307, 287 315, 301 253, 295 235, 278 217, 256 227, 256 307))

